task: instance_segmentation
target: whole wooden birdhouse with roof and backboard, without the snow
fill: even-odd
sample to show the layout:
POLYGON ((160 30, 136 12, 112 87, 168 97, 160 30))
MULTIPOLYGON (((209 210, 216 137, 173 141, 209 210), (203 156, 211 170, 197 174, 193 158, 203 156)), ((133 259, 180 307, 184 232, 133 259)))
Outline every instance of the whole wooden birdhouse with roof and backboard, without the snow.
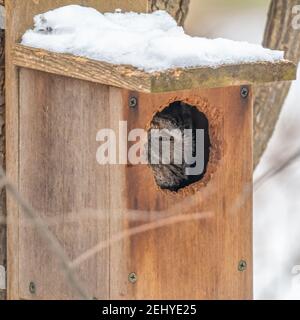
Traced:
POLYGON ((97 299, 251 299, 252 86, 293 80, 295 65, 145 72, 20 44, 36 14, 76 3, 148 10, 146 0, 6 1, 7 175, 29 205, 8 197, 9 297, 77 299, 81 286, 97 299), (127 134, 200 129, 201 172, 100 165, 99 130, 125 122, 127 134))

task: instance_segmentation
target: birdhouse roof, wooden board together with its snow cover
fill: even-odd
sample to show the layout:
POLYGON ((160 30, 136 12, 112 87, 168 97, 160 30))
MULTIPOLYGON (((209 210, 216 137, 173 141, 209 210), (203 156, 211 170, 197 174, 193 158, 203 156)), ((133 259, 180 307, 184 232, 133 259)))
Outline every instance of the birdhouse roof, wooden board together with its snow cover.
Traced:
POLYGON ((13 59, 18 66, 141 92, 296 77, 282 51, 191 37, 164 11, 102 14, 77 5, 37 15, 13 59))

